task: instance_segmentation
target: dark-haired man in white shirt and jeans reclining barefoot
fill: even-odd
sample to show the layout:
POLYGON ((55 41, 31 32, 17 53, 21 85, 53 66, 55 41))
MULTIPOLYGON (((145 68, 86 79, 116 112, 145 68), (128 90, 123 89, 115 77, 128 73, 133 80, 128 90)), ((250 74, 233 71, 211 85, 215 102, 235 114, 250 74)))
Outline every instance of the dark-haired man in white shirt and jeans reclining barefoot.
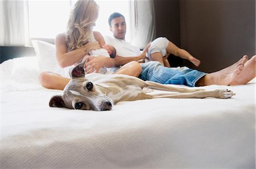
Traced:
MULTIPOLYGON (((126 22, 125 17, 118 12, 109 16, 110 31, 113 36, 105 37, 106 44, 113 45, 118 56, 137 56, 140 53, 138 47, 125 41, 126 22)), ((192 69, 170 69, 159 62, 150 61, 142 66, 139 78, 144 81, 154 81, 162 84, 184 84, 187 86, 208 86, 246 84, 255 77, 256 55, 249 61, 248 56, 243 56, 235 64, 214 73, 203 73, 192 69)))

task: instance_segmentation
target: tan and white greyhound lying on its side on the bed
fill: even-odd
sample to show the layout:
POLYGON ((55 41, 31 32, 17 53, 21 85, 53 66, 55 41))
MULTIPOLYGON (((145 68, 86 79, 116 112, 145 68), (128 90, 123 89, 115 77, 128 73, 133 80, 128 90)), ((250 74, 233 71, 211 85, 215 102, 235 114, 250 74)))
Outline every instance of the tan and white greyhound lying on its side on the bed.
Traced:
MULTIPOLYGON (((86 59, 71 71, 71 81, 65 86, 63 94, 56 95, 49 101, 50 107, 65 107, 93 111, 111 110, 113 104, 122 101, 133 101, 154 98, 222 98, 228 99, 235 95, 232 91, 188 89, 171 87, 151 81, 121 74, 86 74, 86 59), (147 94, 143 88, 170 91, 168 94, 147 94), (172 93, 171 93, 172 92, 172 93)), ((152 91, 151 90, 151 91, 152 91)))

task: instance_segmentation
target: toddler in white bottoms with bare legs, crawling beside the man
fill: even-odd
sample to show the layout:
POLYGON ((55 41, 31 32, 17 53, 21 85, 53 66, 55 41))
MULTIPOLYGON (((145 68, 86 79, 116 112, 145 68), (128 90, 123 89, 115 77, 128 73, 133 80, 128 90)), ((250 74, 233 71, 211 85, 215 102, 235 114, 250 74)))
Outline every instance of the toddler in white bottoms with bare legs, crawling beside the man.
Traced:
POLYGON ((171 67, 167 60, 170 53, 189 60, 196 66, 200 65, 200 60, 193 57, 186 50, 178 48, 166 37, 158 37, 152 41, 150 47, 147 50, 146 57, 147 60, 159 61, 163 66, 171 67))

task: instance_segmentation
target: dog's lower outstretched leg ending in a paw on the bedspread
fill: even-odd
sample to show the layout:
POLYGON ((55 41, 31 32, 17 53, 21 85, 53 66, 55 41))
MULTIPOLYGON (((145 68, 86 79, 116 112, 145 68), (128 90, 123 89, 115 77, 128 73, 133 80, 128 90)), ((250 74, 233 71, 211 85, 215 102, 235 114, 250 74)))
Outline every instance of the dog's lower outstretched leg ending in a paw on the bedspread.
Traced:
POLYGON ((195 91, 195 92, 183 92, 183 93, 174 93, 174 94, 152 94, 152 98, 175 98, 175 99, 186 99, 186 98, 220 98, 228 99, 231 98, 234 94, 228 89, 217 89, 213 91, 195 91))

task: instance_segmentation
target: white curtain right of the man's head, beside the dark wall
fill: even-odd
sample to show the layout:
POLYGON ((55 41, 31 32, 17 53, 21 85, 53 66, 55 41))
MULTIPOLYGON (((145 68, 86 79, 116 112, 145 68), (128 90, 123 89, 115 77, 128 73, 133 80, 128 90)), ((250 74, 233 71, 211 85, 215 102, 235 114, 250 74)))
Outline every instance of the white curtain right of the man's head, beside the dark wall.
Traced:
POLYGON ((131 1, 131 20, 131 43, 143 49, 147 43, 155 39, 153 0, 131 1))

